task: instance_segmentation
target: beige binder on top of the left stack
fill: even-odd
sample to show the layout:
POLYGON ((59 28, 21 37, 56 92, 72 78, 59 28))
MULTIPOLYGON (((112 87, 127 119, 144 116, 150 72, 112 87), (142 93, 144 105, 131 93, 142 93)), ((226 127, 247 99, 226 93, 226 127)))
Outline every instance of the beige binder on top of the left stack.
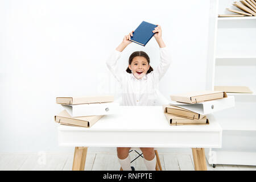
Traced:
POLYGON ((56 103, 63 105, 91 104, 113 101, 114 96, 56 97, 56 103))

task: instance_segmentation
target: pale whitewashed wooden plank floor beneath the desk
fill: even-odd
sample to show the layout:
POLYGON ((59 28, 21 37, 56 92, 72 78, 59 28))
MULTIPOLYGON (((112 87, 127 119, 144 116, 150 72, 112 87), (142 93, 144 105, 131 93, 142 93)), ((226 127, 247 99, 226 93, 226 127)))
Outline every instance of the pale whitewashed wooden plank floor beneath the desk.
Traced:
MULTIPOLYGON (((138 154, 130 153, 131 160, 138 154)), ((193 171, 192 154, 159 154, 162 168, 166 171, 193 171)), ((0 170, 57 170, 69 171, 72 169, 73 154, 52 154, 41 152, 38 154, 0 154, 0 170)), ((146 170, 143 158, 135 160, 131 166, 135 170, 146 170)), ((85 170, 119 170, 120 165, 117 160, 117 154, 114 153, 88 153, 86 156, 85 170)), ((213 168, 207 163, 208 170, 253 170, 256 166, 237 166, 237 165, 216 165, 213 168)))

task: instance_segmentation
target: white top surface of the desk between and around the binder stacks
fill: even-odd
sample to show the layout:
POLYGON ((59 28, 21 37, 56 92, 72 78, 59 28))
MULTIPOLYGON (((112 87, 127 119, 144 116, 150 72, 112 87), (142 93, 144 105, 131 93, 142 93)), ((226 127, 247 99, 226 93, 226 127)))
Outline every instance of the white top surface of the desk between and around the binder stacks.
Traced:
POLYGON ((90 128, 59 125, 69 131, 222 131, 221 126, 208 114, 209 125, 171 126, 162 106, 119 106, 117 114, 104 115, 90 128))

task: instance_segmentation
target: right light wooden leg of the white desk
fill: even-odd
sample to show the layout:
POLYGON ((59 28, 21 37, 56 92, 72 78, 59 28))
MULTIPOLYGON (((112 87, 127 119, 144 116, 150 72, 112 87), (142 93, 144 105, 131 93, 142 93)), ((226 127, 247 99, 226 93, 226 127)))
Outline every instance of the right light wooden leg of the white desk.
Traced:
POLYGON ((192 148, 195 171, 207 171, 204 148, 192 148))

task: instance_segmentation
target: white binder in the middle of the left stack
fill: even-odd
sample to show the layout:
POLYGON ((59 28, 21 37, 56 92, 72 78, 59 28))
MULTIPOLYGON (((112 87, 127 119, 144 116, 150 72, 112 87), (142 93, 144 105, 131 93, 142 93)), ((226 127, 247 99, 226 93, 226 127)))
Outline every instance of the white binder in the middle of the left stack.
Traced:
POLYGON ((67 110, 71 117, 83 117, 89 115, 109 115, 118 111, 117 102, 79 104, 79 105, 61 105, 67 110))

